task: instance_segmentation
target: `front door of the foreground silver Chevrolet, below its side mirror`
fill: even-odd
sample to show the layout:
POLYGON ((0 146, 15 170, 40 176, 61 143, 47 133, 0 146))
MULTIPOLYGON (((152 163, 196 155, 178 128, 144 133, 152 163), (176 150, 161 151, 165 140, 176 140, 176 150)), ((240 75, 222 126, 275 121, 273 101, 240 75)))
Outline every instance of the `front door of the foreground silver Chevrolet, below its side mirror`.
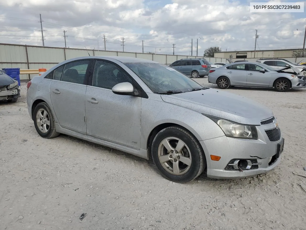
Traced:
POLYGON ((139 150, 141 98, 114 94, 121 82, 132 83, 131 76, 115 63, 96 61, 85 94, 87 135, 139 150))

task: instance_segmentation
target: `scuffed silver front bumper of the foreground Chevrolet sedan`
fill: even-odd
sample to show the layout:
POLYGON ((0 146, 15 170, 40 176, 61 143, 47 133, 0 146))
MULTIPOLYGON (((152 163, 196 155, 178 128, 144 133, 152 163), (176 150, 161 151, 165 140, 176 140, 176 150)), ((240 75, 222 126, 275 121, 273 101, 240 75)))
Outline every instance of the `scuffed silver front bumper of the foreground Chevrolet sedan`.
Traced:
POLYGON ((273 170, 281 161, 281 155, 277 158, 278 144, 280 140, 271 142, 265 132, 276 128, 276 123, 256 126, 258 140, 248 140, 221 136, 209 140, 200 141, 207 162, 207 177, 218 179, 235 179, 254 176, 273 170), (213 161, 210 155, 220 156, 219 161, 213 161), (257 160, 256 169, 226 170, 227 165, 233 159, 257 160), (271 163, 273 162, 273 163, 271 163), (269 165, 269 163, 271 163, 269 165))

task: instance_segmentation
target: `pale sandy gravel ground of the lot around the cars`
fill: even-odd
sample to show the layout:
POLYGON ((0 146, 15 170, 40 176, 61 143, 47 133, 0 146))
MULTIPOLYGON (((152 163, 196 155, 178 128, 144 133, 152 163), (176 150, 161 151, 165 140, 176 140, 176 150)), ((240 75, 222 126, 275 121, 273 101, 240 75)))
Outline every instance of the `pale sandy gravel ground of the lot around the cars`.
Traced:
POLYGON ((227 91, 274 110, 285 137, 281 164, 252 178, 178 184, 151 161, 65 135, 39 137, 22 86, 17 103, 0 102, 0 230, 306 229, 306 178, 293 174, 306 176, 306 90, 227 91))

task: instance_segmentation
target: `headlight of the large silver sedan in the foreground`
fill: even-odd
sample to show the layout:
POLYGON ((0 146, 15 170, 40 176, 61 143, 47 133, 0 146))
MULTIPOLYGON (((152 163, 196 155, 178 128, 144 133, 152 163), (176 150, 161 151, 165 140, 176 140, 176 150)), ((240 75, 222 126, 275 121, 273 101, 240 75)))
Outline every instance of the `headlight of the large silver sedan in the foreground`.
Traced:
POLYGON ((225 136, 244 139, 258 139, 255 125, 242 125, 219 117, 207 117, 209 117, 211 120, 215 121, 217 125, 219 125, 225 136))

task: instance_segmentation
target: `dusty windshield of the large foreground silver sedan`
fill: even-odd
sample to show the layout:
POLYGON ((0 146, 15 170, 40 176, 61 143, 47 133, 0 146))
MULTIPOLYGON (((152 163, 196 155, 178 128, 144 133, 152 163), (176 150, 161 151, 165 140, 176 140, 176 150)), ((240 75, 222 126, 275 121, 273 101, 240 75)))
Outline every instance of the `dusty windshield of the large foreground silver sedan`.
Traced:
POLYGON ((160 63, 124 63, 129 67, 154 93, 186 92, 194 88, 203 88, 176 69, 160 63))

